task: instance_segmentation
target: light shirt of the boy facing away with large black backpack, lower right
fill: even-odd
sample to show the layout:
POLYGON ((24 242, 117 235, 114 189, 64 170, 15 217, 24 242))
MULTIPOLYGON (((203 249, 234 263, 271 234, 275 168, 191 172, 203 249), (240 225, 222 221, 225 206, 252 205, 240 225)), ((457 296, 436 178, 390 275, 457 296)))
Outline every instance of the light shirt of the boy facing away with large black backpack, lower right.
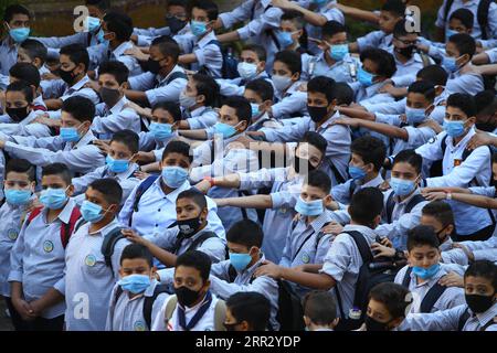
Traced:
POLYGON ((347 234, 349 231, 360 232, 370 246, 374 243, 376 234, 373 229, 362 225, 346 225, 342 233, 337 235, 331 243, 320 270, 321 274, 335 279, 336 286, 332 292, 336 296, 335 291, 339 291, 343 314, 347 317, 353 304, 359 269, 362 266, 359 248, 352 237, 347 234))

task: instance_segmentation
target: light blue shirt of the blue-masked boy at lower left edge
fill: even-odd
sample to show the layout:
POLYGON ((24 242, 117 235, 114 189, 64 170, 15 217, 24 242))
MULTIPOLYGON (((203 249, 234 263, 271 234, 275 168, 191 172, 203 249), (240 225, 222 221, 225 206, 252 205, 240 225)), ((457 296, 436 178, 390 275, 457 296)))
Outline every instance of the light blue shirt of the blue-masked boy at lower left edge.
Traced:
POLYGON ((27 216, 24 205, 11 205, 4 202, 0 207, 0 296, 10 297, 10 253, 18 239, 27 216))

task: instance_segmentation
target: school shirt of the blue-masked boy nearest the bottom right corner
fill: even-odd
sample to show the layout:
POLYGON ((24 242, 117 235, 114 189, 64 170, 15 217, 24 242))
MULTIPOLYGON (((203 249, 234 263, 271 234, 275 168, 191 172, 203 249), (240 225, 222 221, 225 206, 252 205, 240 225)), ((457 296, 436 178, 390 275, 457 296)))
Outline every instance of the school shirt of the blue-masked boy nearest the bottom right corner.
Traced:
MULTIPOLYGON (((395 284, 402 285, 402 281, 404 279, 408 269, 409 265, 401 268, 401 270, 395 275, 394 279, 395 284)), ((429 292, 429 290, 433 286, 435 286, 442 277, 444 277, 447 274, 448 274, 447 271, 441 268, 435 274, 435 276, 433 276, 432 278, 430 278, 424 282, 417 284, 416 276, 413 272, 411 272, 408 289, 411 291, 413 296, 413 302, 409 314, 420 312, 421 303, 426 293, 429 292)), ((442 296, 440 296, 438 299, 433 304, 431 312, 451 309, 457 306, 462 306, 464 303, 466 303, 466 300, 464 298, 464 289, 458 287, 447 287, 445 291, 442 293, 442 296)))

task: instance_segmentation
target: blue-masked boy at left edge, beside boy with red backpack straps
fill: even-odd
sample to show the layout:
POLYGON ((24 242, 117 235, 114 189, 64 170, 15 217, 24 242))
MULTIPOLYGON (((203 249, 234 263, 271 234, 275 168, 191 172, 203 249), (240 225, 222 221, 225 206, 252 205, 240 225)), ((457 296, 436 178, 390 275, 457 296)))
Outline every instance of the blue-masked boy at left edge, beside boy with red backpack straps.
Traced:
POLYGON ((14 328, 19 328, 20 317, 10 299, 10 255, 19 237, 28 208, 36 200, 34 195, 35 169, 24 159, 11 159, 6 168, 6 202, 0 207, 0 296, 6 300, 14 328))

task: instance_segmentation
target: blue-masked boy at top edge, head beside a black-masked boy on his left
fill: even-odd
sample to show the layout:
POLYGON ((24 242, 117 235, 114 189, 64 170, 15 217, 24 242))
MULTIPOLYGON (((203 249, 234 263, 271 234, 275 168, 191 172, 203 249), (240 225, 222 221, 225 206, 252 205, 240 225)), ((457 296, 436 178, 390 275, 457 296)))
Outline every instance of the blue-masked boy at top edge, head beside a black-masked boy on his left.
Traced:
POLYGON ((195 41, 192 53, 181 55, 179 63, 192 64, 193 71, 200 69, 212 77, 221 78, 223 54, 213 31, 213 23, 218 20, 218 6, 210 0, 193 1, 190 18, 190 30, 195 41))

